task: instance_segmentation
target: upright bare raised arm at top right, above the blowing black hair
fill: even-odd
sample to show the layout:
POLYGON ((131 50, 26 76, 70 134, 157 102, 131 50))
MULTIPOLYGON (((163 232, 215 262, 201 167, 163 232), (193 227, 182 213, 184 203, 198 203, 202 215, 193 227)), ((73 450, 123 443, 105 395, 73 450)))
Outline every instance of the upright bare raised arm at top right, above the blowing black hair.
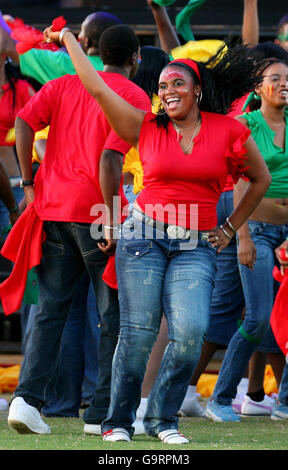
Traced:
POLYGON ((258 0, 243 0, 242 42, 254 47, 259 44, 258 0))

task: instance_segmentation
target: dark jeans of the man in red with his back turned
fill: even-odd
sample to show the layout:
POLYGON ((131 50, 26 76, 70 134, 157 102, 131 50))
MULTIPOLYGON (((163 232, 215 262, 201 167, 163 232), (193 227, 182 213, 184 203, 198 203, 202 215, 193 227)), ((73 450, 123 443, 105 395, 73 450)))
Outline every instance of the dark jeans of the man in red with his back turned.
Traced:
POLYGON ((108 258, 91 237, 89 224, 45 222, 44 229, 47 238, 38 267, 40 309, 34 317, 15 395, 38 408, 47 401, 46 387, 58 363, 61 337, 75 290, 81 274, 87 270, 101 325, 98 382, 93 396, 100 423, 108 410, 111 365, 119 333, 117 291, 102 280, 108 258))

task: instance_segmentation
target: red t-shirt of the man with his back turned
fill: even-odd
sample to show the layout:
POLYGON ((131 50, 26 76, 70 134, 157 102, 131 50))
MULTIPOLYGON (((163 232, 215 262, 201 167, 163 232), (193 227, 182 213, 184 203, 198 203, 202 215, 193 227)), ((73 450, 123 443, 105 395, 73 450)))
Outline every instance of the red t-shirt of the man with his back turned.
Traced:
MULTIPOLYGON (((130 80, 116 73, 99 74, 126 101, 145 111, 151 109, 147 94, 130 80)), ((90 215, 90 210, 104 203, 99 184, 101 153, 111 149, 125 155, 131 146, 111 130, 77 75, 47 82, 18 116, 34 131, 50 125, 45 157, 35 178, 35 209, 40 219, 95 221, 97 216, 90 215)))

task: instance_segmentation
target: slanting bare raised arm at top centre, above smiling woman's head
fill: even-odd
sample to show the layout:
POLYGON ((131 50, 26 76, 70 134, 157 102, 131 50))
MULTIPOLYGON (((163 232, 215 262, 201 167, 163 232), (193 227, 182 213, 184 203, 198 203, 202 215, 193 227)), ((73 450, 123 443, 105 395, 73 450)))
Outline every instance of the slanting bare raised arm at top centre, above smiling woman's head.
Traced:
POLYGON ((175 28, 173 27, 165 7, 158 5, 153 0, 147 0, 151 8, 155 24, 157 26, 160 46, 167 54, 172 49, 181 45, 175 28))

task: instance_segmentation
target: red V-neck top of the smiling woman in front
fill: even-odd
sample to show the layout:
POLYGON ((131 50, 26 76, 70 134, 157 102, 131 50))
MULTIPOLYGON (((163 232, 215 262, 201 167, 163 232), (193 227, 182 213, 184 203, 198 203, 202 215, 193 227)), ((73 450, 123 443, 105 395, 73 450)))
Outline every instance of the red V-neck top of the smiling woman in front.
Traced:
POLYGON ((201 112, 202 124, 194 148, 184 154, 177 133, 169 123, 168 132, 158 127, 148 113, 141 127, 139 154, 144 170, 144 189, 137 198, 150 217, 180 226, 208 230, 217 225, 216 205, 230 173, 236 182, 243 173, 250 131, 236 119, 201 112), (161 211, 155 204, 169 207, 161 211), (190 212, 190 204, 197 205, 190 212), (169 205, 169 206, 168 206, 169 205), (171 216, 172 214, 172 216, 171 216), (176 221, 173 221, 176 214, 176 221), (191 216, 191 221, 190 221, 191 216), (198 222, 198 223, 197 223, 198 222))

